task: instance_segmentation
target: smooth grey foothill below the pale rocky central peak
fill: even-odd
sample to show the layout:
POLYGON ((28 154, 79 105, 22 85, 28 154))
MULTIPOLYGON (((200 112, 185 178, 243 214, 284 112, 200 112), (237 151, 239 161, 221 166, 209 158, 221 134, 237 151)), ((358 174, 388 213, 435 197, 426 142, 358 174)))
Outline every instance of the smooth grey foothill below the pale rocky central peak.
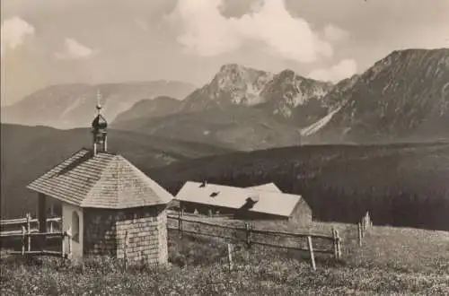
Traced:
POLYGON ((295 126, 279 123, 267 117, 263 110, 242 106, 175 113, 163 118, 113 123, 112 126, 244 151, 301 143, 299 129, 295 126))

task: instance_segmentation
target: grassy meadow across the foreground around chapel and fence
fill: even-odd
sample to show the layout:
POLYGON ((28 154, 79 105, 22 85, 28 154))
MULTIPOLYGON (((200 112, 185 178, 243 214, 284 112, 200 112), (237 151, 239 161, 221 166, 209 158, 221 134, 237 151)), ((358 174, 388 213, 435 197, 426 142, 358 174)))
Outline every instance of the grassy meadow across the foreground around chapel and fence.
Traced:
POLYGON ((25 260, 2 256, 2 294, 32 295, 293 295, 422 294, 449 291, 449 233, 374 227, 343 261, 309 260, 277 248, 236 246, 234 270, 223 240, 169 235, 171 268, 130 266, 113 259, 25 260))

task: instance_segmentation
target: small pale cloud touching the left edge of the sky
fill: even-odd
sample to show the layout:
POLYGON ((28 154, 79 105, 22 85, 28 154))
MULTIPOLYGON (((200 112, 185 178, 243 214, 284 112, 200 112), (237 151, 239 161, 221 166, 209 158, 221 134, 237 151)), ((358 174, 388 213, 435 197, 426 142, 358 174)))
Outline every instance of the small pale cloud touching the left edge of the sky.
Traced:
POLYGON ((6 48, 17 48, 24 42, 27 35, 34 35, 34 27, 22 20, 18 16, 14 16, 4 20, 1 28, 1 55, 4 55, 6 48))

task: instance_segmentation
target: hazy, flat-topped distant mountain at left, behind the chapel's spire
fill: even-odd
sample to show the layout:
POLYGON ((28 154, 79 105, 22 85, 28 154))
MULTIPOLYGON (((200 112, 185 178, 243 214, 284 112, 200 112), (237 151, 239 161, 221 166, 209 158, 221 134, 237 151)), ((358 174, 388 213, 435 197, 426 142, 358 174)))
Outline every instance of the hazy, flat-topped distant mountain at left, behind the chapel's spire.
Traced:
POLYGON ((90 122, 101 91, 103 113, 113 120, 137 101, 169 96, 184 99, 195 87, 189 83, 154 81, 142 83, 57 84, 35 91, 2 109, 2 122, 57 128, 84 127, 90 122))

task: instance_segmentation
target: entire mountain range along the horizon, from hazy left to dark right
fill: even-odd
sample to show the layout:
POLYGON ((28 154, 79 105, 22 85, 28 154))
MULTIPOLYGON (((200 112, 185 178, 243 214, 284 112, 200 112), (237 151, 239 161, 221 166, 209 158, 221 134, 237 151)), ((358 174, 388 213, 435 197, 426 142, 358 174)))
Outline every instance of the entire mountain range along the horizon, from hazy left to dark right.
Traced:
MULTIPOLYGON (((88 102, 67 99, 84 98, 78 90, 88 88, 85 85, 52 88, 57 91, 38 91, 6 109, 6 118, 24 112, 20 117, 30 115, 28 121, 33 124, 49 125, 42 123, 47 120, 62 125, 70 119, 86 126, 92 119, 95 88, 89 88, 92 98, 88 102), (53 110, 53 105, 64 105, 61 110, 65 111, 53 110)), ((101 90, 106 100, 104 113, 112 127, 236 150, 449 137, 448 48, 394 51, 364 73, 336 84, 288 69, 273 74, 229 64, 196 90, 183 83, 162 87, 164 93, 152 92, 156 100, 136 99, 151 97, 136 91, 136 86, 122 88, 138 95, 129 99, 126 91, 101 90)))

